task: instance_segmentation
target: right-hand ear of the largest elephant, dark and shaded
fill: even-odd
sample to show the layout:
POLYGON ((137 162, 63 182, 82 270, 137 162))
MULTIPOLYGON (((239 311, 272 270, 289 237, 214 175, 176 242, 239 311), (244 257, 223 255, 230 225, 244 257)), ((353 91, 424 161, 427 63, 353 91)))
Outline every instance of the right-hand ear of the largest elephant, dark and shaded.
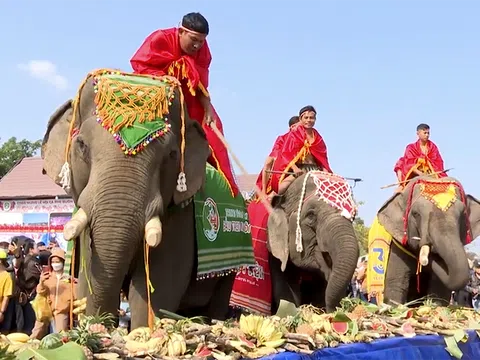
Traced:
POLYGON ((185 178, 187 191, 175 190, 173 201, 180 204, 190 199, 205 182, 205 167, 210 148, 201 125, 194 120, 185 119, 185 178))

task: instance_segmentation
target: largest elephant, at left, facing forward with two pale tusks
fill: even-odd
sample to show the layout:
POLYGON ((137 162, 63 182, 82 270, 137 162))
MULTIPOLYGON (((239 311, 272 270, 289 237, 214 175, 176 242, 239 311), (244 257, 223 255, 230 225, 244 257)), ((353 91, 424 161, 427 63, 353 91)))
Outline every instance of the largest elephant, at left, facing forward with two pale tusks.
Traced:
POLYGON ((79 210, 65 225, 64 235, 75 238, 85 230, 76 242, 75 254, 76 264, 81 259, 84 270, 78 275, 78 296, 87 298, 86 314, 99 309, 117 314, 124 284, 132 329, 146 325, 146 241, 151 245, 151 304, 157 314, 164 309, 224 318, 235 274, 196 280, 192 197, 205 182, 210 155, 201 125, 188 118, 185 108, 187 190, 180 192, 176 188, 183 106, 179 89, 169 108, 171 130, 135 156, 125 155, 98 123, 94 99, 94 81, 89 75, 79 90, 76 113, 72 100, 61 105, 50 117, 42 144, 43 173, 57 184, 68 156, 68 192, 79 210))

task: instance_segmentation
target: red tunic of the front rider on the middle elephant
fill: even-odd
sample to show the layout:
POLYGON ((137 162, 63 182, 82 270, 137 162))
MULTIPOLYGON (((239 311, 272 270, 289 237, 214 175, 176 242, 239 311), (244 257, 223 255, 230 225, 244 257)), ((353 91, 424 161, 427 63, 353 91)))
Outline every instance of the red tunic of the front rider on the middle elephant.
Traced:
POLYGON ((303 126, 298 126, 286 134, 282 149, 277 153, 277 159, 273 165, 273 171, 275 172, 272 174, 271 187, 276 193, 278 193, 279 184, 288 176, 287 174, 281 174, 281 172, 292 171, 292 166, 308 154, 312 155, 317 165, 321 166, 324 171, 332 173, 328 163, 327 146, 318 131, 312 130, 314 134, 312 144, 308 142, 307 133, 303 126))

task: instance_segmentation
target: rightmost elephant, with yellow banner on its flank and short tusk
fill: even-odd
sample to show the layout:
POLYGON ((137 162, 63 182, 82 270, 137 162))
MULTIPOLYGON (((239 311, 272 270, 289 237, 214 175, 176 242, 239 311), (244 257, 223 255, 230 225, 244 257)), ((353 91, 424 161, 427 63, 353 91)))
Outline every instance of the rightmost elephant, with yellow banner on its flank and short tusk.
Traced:
POLYGON ((415 178, 402 192, 394 194, 377 215, 378 222, 394 239, 385 272, 385 302, 404 304, 433 294, 441 301, 449 301, 452 291, 467 285, 467 224, 474 240, 480 235, 480 203, 465 195, 458 180, 415 178), (448 209, 436 206, 422 193, 422 184, 432 181, 440 182, 440 186, 454 186, 455 198, 448 209), (415 279, 419 262, 422 271, 415 279))

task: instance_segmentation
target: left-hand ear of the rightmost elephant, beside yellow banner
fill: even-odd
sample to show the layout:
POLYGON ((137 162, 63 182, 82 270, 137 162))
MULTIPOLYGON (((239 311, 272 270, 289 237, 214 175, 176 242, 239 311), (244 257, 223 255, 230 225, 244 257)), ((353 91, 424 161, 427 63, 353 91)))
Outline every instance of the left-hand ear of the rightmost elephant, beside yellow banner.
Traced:
POLYGON ((395 239, 403 238, 403 217, 405 216, 403 193, 397 193, 388 199, 377 213, 378 222, 395 239))

